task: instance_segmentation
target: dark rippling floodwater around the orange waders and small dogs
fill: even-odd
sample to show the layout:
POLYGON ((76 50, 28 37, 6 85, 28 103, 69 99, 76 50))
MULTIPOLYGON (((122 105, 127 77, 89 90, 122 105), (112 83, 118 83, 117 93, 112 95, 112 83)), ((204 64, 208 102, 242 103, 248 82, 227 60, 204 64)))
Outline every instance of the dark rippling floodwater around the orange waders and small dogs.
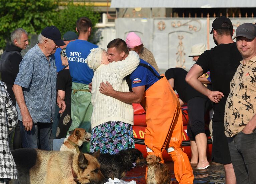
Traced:
MULTIPOLYGON (((172 180, 171 184, 178 184, 173 173, 173 162, 166 163, 171 171, 172 180)), ((194 182, 202 184, 224 184, 225 183, 225 172, 222 164, 215 162, 210 163, 210 166, 206 169, 197 169, 196 165, 192 166, 194 173, 194 182)), ((145 184, 145 172, 146 167, 136 167, 126 173, 126 177, 123 178, 125 181, 136 181, 136 184, 145 184)))

